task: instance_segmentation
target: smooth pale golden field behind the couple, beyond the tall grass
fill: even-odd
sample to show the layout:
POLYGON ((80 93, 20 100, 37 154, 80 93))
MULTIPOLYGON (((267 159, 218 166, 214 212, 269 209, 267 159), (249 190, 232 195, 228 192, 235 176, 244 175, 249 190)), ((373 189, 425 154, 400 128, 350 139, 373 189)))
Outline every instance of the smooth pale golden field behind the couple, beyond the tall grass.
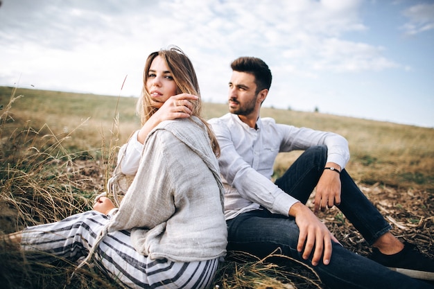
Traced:
MULTIPOLYGON (((0 87, 0 105, 6 107, 11 94, 12 88, 0 87)), ((64 143, 69 151, 89 150, 98 157, 103 139, 116 133, 117 144, 121 145, 139 128, 134 112, 137 98, 35 89, 18 89, 16 96, 19 95, 24 97, 13 104, 11 116, 15 122, 8 127, 15 129, 26 124, 39 130, 46 125, 55 134, 73 131, 64 143), (115 117, 119 121, 116 125, 115 117)), ((207 119, 226 112, 225 104, 204 105, 207 119)), ((347 168, 358 182, 434 192, 433 128, 266 107, 261 116, 271 116, 278 123, 336 132, 347 138, 351 151, 347 168)), ((297 152, 281 154, 275 167, 277 175, 295 157, 297 152)))

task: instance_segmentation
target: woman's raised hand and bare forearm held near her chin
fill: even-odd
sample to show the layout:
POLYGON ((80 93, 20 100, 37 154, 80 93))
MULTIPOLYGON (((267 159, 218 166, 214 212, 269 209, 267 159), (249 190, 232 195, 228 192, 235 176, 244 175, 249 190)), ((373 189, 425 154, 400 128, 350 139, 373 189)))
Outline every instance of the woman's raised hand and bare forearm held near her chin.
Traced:
POLYGON ((149 132, 162 121, 190 117, 193 113, 193 104, 190 100, 198 100, 198 98, 198 96, 194 96, 193 94, 177 94, 168 98, 162 107, 153 116, 150 116, 144 126, 141 127, 139 134, 137 134, 137 140, 140 143, 144 143, 149 132))

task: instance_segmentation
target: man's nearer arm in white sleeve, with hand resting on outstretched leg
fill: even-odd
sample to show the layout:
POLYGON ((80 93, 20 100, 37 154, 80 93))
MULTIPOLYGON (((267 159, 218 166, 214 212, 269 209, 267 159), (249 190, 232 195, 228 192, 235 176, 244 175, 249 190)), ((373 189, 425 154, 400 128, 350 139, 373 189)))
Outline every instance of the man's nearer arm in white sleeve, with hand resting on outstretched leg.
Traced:
MULTIPOLYGON (((312 264, 318 265, 321 256, 323 256, 322 261, 327 265, 331 258, 331 240, 336 242, 338 240, 333 237, 311 209, 281 191, 270 179, 257 173, 256 170, 243 161, 243 158, 236 152, 234 143, 232 143, 229 128, 222 123, 213 125, 213 128, 222 150, 219 159, 220 171, 228 184, 234 186, 243 198, 257 202, 273 213, 295 217, 295 222, 300 229, 297 250, 303 252, 303 258, 307 259, 313 248, 315 248, 312 264), (277 188, 278 192, 271 193, 275 188, 277 188), (283 195, 288 197, 286 202, 285 200, 282 200, 283 202, 279 200, 283 195), (270 199, 268 200, 268 198, 270 199), (270 200, 274 202, 270 202, 270 200), (279 207, 277 204, 281 204, 281 206, 279 207), (287 211, 282 212, 284 207, 286 207, 287 211), (279 210, 272 210, 277 208, 279 210)), ((320 141, 318 142, 320 144, 320 141)))

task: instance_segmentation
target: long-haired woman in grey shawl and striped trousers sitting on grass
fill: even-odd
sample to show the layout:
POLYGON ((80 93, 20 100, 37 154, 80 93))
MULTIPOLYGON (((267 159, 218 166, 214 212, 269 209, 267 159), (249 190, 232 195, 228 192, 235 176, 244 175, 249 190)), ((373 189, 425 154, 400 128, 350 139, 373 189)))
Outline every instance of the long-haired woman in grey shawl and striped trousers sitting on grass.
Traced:
POLYGON ((26 251, 87 256, 126 288, 206 288, 227 245, 219 148, 200 118, 196 73, 180 49, 148 56, 138 107, 142 127, 123 151, 141 157, 132 158, 137 173, 119 209, 101 197, 95 211, 10 239, 26 251))

